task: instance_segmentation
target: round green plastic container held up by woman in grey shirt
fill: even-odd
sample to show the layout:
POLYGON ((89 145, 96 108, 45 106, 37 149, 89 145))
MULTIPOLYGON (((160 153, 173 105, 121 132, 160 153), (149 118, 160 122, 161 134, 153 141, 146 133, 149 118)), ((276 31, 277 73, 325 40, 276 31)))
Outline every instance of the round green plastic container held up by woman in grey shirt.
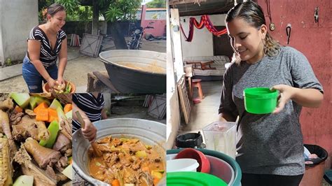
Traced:
POLYGON ((248 113, 268 114, 277 106, 277 90, 267 87, 248 88, 243 91, 244 107, 248 113))

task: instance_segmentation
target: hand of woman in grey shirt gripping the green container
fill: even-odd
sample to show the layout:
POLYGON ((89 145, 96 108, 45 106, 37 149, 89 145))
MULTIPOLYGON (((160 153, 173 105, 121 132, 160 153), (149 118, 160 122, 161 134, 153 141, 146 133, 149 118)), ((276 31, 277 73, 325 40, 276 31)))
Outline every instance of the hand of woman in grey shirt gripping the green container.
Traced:
POLYGON ((273 114, 277 114, 284 109, 286 103, 293 97, 295 88, 289 85, 275 85, 271 90, 279 90, 280 93, 277 108, 273 111, 273 114))

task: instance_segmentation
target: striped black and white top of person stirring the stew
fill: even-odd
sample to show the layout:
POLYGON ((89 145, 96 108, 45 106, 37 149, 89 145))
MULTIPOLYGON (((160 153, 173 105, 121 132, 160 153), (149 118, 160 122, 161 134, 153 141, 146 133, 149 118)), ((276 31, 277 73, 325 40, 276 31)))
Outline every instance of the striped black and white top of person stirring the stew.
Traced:
MULTIPOLYGON (((99 93, 97 97, 91 93, 73 94, 73 102, 90 119, 90 122, 102 120, 102 108, 104 107, 104 95, 99 93)), ((73 133, 81 128, 81 124, 73 120, 73 133)))

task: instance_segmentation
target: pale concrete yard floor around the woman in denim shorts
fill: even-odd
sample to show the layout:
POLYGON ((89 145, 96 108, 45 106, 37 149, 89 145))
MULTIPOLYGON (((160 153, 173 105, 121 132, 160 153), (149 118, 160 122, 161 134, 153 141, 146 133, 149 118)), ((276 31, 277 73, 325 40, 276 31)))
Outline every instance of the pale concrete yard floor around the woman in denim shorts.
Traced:
MULTIPOLYGON (((64 79, 76 85, 76 92, 86 92, 88 73, 106 71, 99 57, 89 57, 79 52, 79 47, 68 47, 68 62, 64 79)), ((166 41, 142 40, 141 50, 166 52, 166 41)), ((22 64, 0 68, 0 92, 29 92, 22 77, 22 64)))

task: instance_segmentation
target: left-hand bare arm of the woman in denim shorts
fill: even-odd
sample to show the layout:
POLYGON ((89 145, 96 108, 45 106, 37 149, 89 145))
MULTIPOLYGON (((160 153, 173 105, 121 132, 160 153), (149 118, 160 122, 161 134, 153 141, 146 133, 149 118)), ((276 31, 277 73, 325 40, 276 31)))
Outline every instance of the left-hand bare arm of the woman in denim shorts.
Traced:
POLYGON ((34 64, 34 67, 36 67, 41 76, 47 80, 50 87, 53 87, 55 85, 55 80, 50 77, 50 74, 48 74, 40 60, 41 42, 36 40, 28 40, 28 52, 30 61, 34 64))

